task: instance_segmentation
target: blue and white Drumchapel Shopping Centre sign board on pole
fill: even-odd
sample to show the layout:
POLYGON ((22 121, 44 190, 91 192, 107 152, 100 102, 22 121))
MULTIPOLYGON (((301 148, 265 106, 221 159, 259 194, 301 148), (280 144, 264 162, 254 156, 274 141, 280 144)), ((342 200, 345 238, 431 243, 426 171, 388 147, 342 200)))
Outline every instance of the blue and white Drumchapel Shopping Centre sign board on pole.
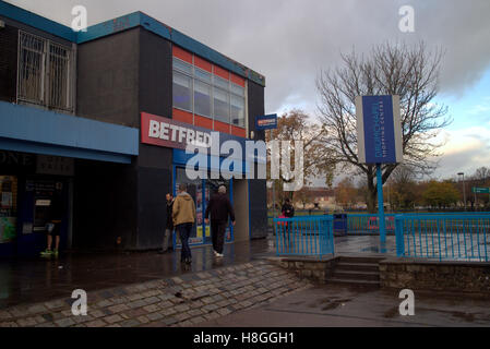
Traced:
POLYGON ((356 112, 359 163, 402 163, 399 96, 359 96, 356 112))

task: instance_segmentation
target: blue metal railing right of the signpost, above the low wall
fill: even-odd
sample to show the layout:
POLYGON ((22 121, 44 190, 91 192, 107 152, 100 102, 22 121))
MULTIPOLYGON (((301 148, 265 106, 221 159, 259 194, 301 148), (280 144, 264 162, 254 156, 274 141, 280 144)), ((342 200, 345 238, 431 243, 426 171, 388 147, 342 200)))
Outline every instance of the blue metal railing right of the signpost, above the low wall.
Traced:
POLYGON ((437 260, 490 258, 490 214, 396 215, 398 256, 437 260))

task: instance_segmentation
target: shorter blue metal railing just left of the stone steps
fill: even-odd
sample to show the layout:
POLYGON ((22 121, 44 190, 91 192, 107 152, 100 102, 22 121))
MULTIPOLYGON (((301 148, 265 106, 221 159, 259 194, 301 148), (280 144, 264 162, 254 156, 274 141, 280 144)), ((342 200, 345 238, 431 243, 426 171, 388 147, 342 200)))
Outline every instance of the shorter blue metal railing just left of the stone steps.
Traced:
POLYGON ((334 254, 333 217, 274 218, 277 255, 334 254))

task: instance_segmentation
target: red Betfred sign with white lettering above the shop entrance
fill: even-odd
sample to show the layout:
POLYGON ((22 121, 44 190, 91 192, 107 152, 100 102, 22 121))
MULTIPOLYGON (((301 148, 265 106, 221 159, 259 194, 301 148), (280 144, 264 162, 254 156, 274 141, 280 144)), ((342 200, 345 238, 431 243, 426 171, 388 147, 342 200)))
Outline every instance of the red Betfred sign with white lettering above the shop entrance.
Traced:
POLYGON ((188 144, 211 147, 211 131, 168 118, 141 113, 141 142, 186 149, 188 144))

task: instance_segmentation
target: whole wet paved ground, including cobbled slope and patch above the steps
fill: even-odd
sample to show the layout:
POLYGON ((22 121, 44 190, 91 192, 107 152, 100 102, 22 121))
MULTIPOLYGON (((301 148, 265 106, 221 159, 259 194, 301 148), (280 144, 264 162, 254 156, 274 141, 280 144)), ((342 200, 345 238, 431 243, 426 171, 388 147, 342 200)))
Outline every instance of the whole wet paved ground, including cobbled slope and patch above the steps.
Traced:
MULTIPOLYGON (((394 255, 395 241, 336 237, 335 252, 394 255)), ((211 246, 192 254, 189 267, 180 264, 179 251, 0 260, 0 317, 10 314, 20 326, 490 326, 486 299, 416 292, 415 316, 402 316, 397 290, 310 287, 267 263, 275 255, 272 237, 227 244, 222 260, 211 246), (77 288, 94 302, 86 323, 64 310, 77 288), (189 300, 179 298, 182 290, 191 292, 189 300)))

